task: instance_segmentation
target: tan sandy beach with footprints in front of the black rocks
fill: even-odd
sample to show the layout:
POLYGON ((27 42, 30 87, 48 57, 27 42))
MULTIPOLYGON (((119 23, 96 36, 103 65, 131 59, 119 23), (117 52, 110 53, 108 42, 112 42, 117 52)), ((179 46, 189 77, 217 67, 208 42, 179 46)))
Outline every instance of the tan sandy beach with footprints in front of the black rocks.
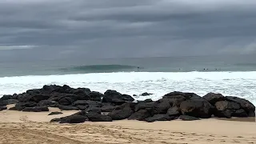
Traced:
MULTIPOLYGON (((60 111, 51 108, 50 111, 60 111)), ((256 122, 206 119, 194 122, 85 122, 82 124, 50 123, 50 119, 74 114, 48 116, 49 112, 29 113, 12 110, 0 112, 0 143, 22 144, 256 144, 256 122)), ((235 120, 235 119, 234 119, 235 120)))

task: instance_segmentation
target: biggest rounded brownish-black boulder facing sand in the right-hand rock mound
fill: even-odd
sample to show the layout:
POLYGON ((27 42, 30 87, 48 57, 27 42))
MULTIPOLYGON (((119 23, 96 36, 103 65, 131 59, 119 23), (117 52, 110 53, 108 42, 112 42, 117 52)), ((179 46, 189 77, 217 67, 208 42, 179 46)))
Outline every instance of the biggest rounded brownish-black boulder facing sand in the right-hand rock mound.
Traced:
POLYGON ((186 100, 180 105, 183 115, 190 115, 197 118, 210 118, 213 114, 214 106, 210 102, 202 99, 186 100))

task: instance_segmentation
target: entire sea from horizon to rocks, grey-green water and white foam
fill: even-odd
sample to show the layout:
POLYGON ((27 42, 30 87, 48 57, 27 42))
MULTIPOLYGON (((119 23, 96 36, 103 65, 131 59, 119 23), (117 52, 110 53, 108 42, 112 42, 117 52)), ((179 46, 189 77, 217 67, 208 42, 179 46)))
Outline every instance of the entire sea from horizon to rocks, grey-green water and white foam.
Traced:
POLYGON ((43 85, 87 87, 104 93, 152 93, 161 98, 178 90, 238 96, 256 104, 256 56, 62 59, 12 62, 0 59, 0 97, 43 85))

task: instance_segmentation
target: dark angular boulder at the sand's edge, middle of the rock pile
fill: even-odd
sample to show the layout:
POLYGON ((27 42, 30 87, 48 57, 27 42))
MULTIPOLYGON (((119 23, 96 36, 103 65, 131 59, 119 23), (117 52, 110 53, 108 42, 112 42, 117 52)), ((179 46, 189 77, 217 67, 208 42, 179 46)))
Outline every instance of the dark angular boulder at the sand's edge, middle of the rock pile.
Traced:
POLYGON ((108 114, 113 120, 122 120, 129 118, 134 111, 130 108, 130 105, 122 106, 122 109, 116 108, 108 114))

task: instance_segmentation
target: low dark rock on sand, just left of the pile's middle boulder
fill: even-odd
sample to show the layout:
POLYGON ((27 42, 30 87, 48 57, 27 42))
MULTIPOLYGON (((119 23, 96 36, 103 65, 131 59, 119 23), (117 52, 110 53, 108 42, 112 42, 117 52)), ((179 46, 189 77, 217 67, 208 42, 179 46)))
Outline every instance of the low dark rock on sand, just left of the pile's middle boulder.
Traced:
POLYGON ((86 116, 91 122, 112 122, 112 118, 104 114, 89 112, 86 116))

